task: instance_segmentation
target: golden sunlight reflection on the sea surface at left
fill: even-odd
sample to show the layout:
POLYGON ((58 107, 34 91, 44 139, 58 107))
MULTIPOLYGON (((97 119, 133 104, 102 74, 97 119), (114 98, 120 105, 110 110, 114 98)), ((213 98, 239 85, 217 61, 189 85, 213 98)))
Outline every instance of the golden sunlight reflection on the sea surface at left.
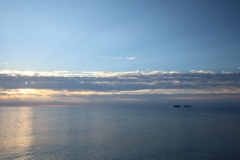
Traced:
MULTIPOLYGON (((31 158, 28 154, 33 140, 32 108, 8 108, 6 115, 1 112, 2 154, 15 159, 31 158), (9 154, 11 153, 11 154, 9 154)), ((2 111, 2 110, 1 110, 2 111)))

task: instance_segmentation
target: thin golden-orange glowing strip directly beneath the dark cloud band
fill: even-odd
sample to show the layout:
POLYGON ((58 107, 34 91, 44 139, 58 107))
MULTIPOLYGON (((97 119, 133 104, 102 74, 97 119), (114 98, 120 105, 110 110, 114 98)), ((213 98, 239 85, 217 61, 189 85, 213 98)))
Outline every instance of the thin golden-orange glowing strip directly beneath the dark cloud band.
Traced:
POLYGON ((52 97, 57 95, 139 95, 139 94, 213 94, 213 93, 226 93, 226 94, 237 94, 240 93, 240 89, 229 90, 187 90, 187 89, 144 89, 144 90, 134 90, 134 91, 108 91, 108 92, 98 92, 98 91, 68 91, 68 90, 51 90, 51 89, 7 89, 0 90, 1 98, 27 98, 27 97, 52 97))

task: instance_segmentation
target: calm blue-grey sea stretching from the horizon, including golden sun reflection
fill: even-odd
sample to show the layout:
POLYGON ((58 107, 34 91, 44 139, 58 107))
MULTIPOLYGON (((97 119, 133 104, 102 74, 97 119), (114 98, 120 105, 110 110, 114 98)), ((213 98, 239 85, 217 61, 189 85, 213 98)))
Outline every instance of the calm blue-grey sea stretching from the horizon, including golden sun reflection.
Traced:
POLYGON ((0 123, 0 159, 240 159, 240 108, 0 107, 0 123))

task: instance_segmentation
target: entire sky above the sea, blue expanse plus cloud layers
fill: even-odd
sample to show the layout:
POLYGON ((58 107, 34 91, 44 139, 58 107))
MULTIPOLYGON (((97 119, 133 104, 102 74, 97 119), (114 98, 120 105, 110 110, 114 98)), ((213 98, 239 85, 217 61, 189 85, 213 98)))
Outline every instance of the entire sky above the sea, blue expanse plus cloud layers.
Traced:
POLYGON ((0 105, 239 105, 239 6, 0 0, 0 105))

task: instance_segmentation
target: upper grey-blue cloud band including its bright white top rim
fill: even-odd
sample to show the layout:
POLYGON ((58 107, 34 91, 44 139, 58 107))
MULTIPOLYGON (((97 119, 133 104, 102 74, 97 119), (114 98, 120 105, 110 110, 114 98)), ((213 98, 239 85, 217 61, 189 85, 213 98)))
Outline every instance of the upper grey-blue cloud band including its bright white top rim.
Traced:
POLYGON ((36 88, 91 91, 129 91, 143 89, 223 89, 238 88, 240 73, 209 71, 181 73, 176 71, 128 72, 34 72, 0 71, 4 89, 36 88), (27 82, 27 84, 26 84, 27 82))

